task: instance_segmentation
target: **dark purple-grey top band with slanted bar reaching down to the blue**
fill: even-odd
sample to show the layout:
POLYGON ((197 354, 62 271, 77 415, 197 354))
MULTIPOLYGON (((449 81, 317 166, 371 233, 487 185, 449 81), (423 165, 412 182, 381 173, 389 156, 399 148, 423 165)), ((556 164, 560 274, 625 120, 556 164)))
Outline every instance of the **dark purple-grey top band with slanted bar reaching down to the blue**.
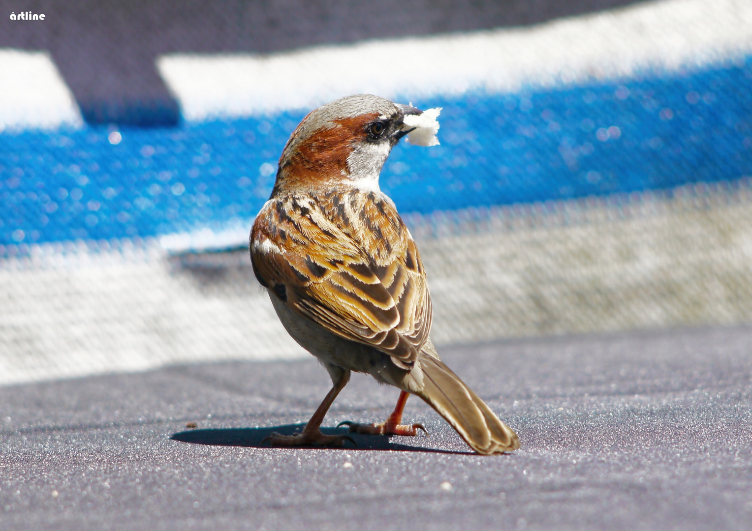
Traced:
MULTIPOLYGON (((522 26, 634 0, 0 0, 0 47, 48 50, 90 124, 176 125, 154 65, 165 53, 271 53, 316 44, 522 26)), ((396 58, 396 60, 399 60, 396 58)))

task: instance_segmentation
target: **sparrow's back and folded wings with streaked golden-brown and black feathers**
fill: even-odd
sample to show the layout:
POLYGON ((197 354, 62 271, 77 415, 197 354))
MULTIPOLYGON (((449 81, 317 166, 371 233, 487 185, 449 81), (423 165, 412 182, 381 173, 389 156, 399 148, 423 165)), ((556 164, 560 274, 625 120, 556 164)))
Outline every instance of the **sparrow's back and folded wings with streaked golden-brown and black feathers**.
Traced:
POLYGON ((273 198, 253 224, 250 254, 259 281, 293 311, 400 367, 414 363, 431 297, 417 246, 386 196, 335 189, 273 198))

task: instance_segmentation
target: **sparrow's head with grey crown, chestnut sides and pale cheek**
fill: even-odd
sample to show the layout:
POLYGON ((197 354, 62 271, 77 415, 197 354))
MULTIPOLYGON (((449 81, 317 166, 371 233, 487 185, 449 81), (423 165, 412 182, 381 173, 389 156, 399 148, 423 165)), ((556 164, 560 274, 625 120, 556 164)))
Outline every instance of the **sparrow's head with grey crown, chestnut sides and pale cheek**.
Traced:
POLYGON ((384 161, 411 131, 405 116, 421 113, 368 94, 340 98, 311 111, 287 140, 271 197, 301 187, 341 183, 378 190, 384 161))

